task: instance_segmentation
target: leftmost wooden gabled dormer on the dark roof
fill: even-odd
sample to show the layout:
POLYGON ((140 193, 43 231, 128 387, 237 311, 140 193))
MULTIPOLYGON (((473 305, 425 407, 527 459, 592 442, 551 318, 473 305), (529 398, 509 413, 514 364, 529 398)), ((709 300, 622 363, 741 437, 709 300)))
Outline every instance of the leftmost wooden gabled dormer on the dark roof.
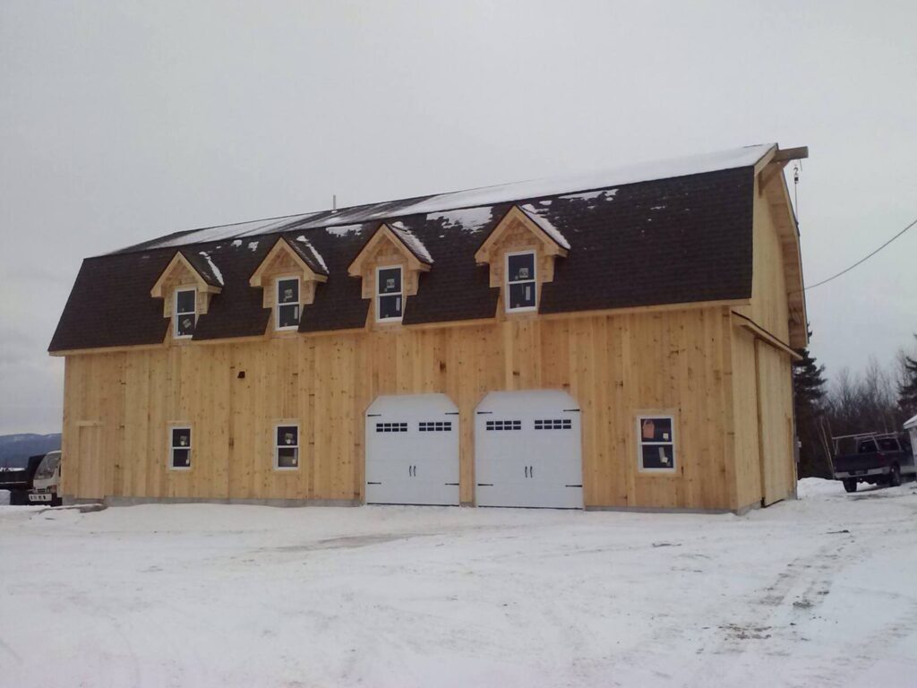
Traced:
POLYGON ((162 299, 162 316, 172 319, 171 338, 190 339, 210 299, 223 291, 223 275, 207 251, 176 251, 149 295, 162 299))

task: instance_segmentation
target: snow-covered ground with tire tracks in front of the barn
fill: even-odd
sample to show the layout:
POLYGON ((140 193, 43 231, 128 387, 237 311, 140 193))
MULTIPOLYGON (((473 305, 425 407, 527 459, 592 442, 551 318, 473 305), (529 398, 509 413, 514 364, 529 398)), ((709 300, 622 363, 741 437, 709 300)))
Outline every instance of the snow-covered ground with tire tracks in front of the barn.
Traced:
POLYGON ((0 508, 4 686, 913 686, 917 487, 746 516, 0 508))

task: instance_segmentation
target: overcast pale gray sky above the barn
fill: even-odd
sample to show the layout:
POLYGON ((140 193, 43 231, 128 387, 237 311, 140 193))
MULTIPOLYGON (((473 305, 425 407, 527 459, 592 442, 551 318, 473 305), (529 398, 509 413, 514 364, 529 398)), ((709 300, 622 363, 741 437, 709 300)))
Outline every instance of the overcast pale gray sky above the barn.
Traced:
MULTIPOLYGON (((912 2, 0 4, 0 433, 61 427, 85 256, 179 229, 808 145, 815 283, 917 217, 912 2)), ((917 229, 808 294, 828 366, 917 330, 917 229)), ((626 276, 621 276, 626 279, 626 276)))

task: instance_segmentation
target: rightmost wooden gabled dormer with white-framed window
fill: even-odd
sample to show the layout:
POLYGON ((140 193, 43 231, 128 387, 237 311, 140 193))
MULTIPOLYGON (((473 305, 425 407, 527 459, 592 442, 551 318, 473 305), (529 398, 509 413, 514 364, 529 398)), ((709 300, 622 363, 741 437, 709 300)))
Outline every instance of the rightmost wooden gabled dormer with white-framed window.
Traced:
POLYGON ((514 205, 474 254, 490 266, 490 284, 500 288, 498 316, 536 313, 541 285, 554 281, 554 261, 567 256, 569 242, 532 204, 514 205))

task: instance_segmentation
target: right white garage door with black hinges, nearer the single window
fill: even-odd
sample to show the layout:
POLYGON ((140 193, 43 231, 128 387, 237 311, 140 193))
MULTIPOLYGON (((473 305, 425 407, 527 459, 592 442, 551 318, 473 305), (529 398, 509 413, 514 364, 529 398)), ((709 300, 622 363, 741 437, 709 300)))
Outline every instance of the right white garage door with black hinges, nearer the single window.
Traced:
POLYGON ((572 396, 492 392, 474 417, 479 506, 582 508, 580 406, 572 396))

